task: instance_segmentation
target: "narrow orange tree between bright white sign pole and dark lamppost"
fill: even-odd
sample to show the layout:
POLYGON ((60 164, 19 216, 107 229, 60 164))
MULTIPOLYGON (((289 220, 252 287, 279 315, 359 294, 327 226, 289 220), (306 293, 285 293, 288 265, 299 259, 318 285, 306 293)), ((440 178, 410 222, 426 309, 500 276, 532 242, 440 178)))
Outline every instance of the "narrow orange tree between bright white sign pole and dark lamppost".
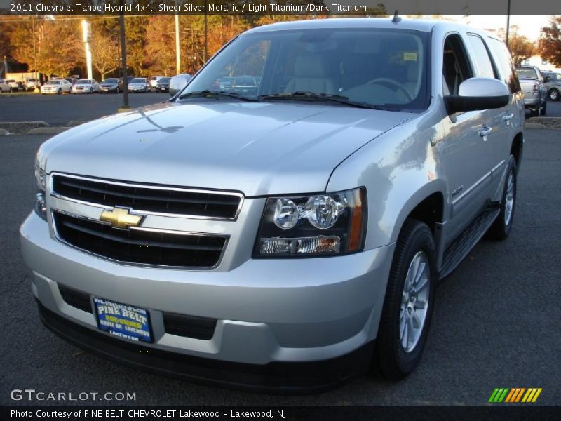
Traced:
POLYGON ((100 72, 101 80, 108 73, 119 69, 119 20, 114 18, 94 19, 92 23, 92 65, 100 72))

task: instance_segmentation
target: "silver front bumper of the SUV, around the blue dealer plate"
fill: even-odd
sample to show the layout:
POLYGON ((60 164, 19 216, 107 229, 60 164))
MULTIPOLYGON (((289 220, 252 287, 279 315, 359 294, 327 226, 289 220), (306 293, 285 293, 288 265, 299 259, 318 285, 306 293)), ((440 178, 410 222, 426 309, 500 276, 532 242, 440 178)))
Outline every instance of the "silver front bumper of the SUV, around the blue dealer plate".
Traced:
MULTIPOLYGON (((201 370, 211 363, 234 363, 252 367, 250 373, 276 372, 271 364, 313 366, 320 361, 346 360, 344 356, 370 347, 377 334, 393 255, 390 245, 332 258, 249 259, 224 272, 156 269, 121 265, 66 246, 51 236, 48 224, 35 213, 25 220, 20 234, 24 260, 32 269, 32 290, 51 330, 98 352, 101 347, 93 344, 107 342, 122 353, 104 353, 119 354, 114 357, 119 361, 213 382, 219 380, 212 370, 208 375, 191 372, 192 364, 186 363, 185 373, 179 373, 170 363, 165 368, 164 360, 173 354, 174 361, 207 361, 194 364, 201 370), (138 345, 98 330, 93 313, 63 300, 59 283, 87 293, 90 300, 96 296, 148 309, 154 342, 138 345), (217 319, 214 335, 210 340, 198 340, 166 333, 163 312, 217 319), (49 321, 53 319, 60 323, 49 321), (157 362, 130 352, 137 348, 149 349, 149 354, 162 359, 156 358, 157 362), (158 367, 160 363, 163 368, 158 367)), ((366 363, 359 365, 367 368, 366 363)), ((346 375, 339 369, 332 373, 338 381, 357 373, 348 362, 343 366, 346 375)), ((252 383, 235 380, 227 383, 252 383)), ((280 386, 280 380, 273 380, 274 387, 280 386)), ((311 387, 310 382, 304 382, 306 388, 311 387)), ((320 387, 327 384, 333 381, 323 378, 318 383, 320 387)))

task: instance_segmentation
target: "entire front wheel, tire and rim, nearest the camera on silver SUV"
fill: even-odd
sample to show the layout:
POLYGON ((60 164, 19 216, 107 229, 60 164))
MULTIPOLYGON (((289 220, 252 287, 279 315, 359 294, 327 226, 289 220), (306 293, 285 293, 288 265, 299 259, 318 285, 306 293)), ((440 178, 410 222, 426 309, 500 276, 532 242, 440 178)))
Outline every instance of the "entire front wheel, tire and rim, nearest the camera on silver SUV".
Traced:
POLYGON ((388 380, 407 376, 421 359, 437 279, 431 229, 405 220, 393 253, 374 354, 374 363, 388 380))

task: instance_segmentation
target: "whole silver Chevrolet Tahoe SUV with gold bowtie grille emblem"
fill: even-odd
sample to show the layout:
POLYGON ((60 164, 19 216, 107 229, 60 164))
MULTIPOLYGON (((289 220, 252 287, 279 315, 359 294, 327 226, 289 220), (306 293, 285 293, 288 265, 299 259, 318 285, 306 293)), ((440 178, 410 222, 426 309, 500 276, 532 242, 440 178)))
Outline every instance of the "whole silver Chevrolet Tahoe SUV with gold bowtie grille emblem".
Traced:
POLYGON ((40 147, 21 241, 41 319, 223 385, 404 377, 437 281, 511 230, 523 119, 506 47, 478 29, 251 29, 170 101, 40 147))

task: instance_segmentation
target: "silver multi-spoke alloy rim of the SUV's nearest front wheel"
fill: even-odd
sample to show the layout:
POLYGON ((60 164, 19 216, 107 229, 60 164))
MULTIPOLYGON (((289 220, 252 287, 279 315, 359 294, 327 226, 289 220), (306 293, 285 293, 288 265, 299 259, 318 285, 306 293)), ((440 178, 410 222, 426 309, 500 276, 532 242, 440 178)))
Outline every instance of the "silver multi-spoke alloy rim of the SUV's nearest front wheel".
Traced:
POLYGON ((423 332, 431 288, 430 271, 426 254, 419 251, 407 269, 401 298, 399 337, 405 352, 412 352, 423 332))

